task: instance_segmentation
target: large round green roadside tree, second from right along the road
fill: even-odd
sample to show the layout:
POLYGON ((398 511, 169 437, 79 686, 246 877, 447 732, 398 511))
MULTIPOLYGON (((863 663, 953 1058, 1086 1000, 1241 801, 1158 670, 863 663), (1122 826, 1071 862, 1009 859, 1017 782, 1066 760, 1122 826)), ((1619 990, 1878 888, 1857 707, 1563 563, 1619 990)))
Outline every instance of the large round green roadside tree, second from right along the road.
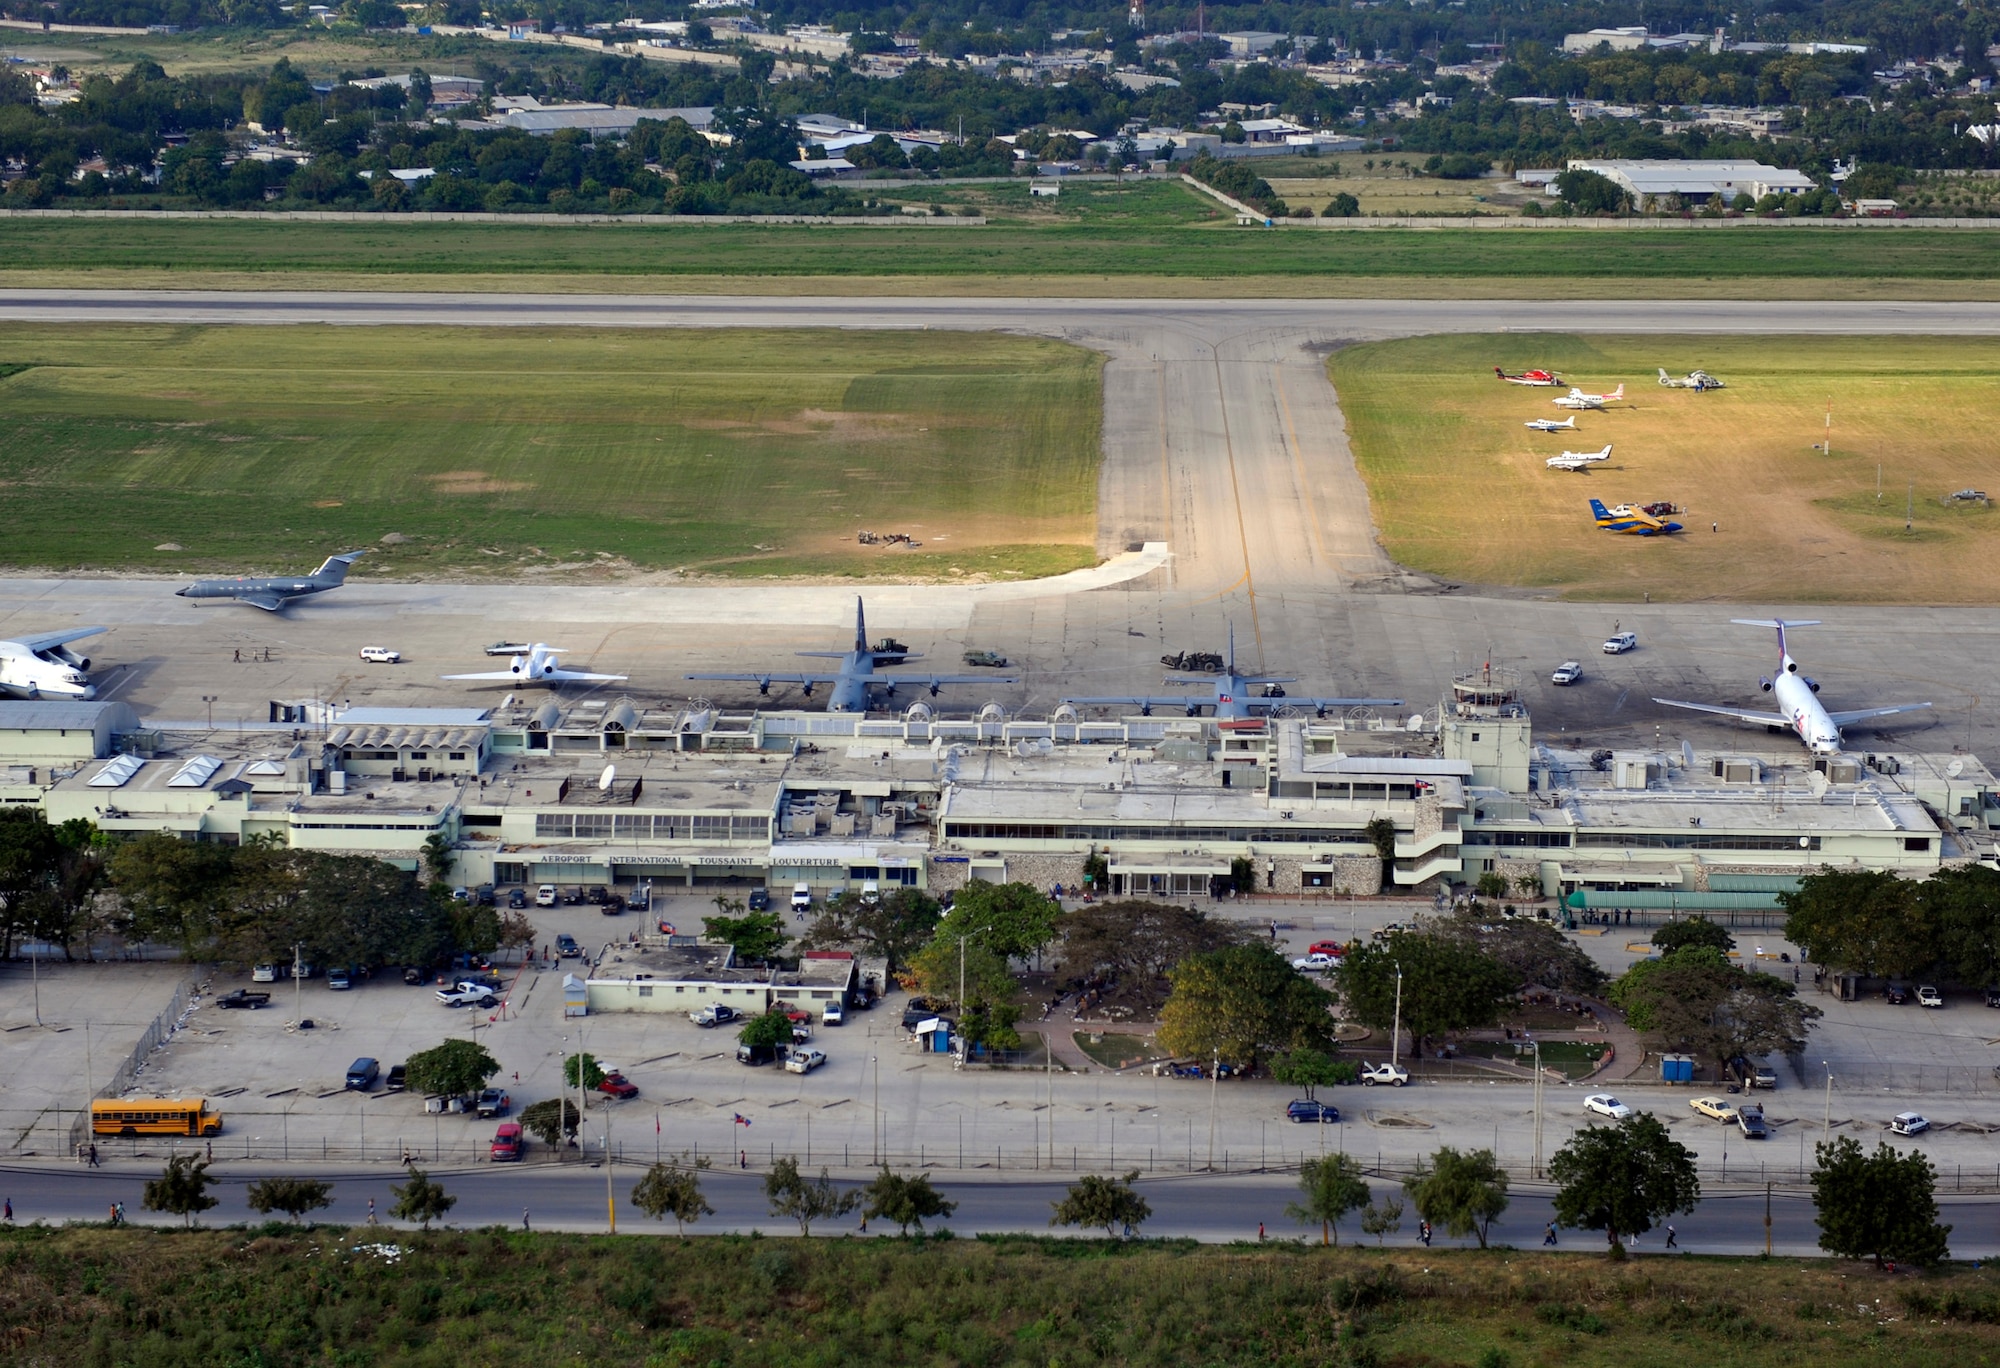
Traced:
POLYGON ((1666 1134, 1656 1116, 1640 1112, 1616 1126, 1586 1126, 1548 1164, 1556 1180, 1556 1222, 1574 1230, 1618 1236, 1646 1234, 1672 1212, 1692 1212, 1702 1200, 1694 1150, 1666 1134))

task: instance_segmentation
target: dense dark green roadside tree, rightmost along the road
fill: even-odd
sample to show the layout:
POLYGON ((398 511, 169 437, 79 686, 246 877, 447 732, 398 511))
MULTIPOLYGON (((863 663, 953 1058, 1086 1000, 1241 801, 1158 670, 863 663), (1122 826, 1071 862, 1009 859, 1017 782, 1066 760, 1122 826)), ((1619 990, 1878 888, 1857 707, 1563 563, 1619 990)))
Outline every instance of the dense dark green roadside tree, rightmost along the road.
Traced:
POLYGON ((1950 1256, 1950 1226, 1938 1224, 1930 1160, 1878 1144, 1874 1154, 1850 1136, 1812 1146, 1812 1204, 1820 1248, 1840 1258, 1874 1258, 1928 1268, 1950 1256))

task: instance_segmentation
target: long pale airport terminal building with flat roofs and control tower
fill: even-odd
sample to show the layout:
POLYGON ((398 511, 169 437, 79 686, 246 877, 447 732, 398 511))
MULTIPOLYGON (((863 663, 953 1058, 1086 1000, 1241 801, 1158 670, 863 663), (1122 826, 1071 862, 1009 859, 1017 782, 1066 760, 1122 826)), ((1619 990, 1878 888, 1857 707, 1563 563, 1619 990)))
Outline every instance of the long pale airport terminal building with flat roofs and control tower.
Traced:
POLYGON ((1970 756, 1814 758, 1790 738, 1574 750, 1536 740, 1502 674, 1396 720, 544 702, 190 728, 116 702, 22 702, 0 704, 0 800, 410 868, 444 834, 466 884, 634 898, 1080 886, 1102 858, 1116 896, 1198 900, 1250 876, 1338 898, 1502 874, 1574 906, 1768 908, 1820 866, 1992 860, 2000 828, 2000 784, 1970 756))

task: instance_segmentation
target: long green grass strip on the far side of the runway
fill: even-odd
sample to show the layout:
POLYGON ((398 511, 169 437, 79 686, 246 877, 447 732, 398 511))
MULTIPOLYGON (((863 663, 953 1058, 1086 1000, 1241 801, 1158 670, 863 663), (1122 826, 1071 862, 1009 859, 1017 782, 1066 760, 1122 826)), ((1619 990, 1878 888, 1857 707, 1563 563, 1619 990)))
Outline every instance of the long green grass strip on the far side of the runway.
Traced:
MULTIPOLYGON (((1070 196, 1070 192, 1064 192, 1070 196)), ((1006 194, 940 188, 908 198, 1004 212, 1006 194)), ((1986 280, 2000 232, 1744 228, 1380 230, 1236 228, 1180 184, 1084 190, 1076 208, 984 228, 838 228, 676 222, 662 226, 254 220, 0 220, 0 284, 88 284, 92 272, 368 276, 512 274, 520 290, 570 276, 1112 276, 1112 278, 1538 278, 1566 280, 1986 280), (1086 208, 1088 206, 1088 208, 1086 208)), ((1026 208, 1022 212, 1028 212, 1026 208)))

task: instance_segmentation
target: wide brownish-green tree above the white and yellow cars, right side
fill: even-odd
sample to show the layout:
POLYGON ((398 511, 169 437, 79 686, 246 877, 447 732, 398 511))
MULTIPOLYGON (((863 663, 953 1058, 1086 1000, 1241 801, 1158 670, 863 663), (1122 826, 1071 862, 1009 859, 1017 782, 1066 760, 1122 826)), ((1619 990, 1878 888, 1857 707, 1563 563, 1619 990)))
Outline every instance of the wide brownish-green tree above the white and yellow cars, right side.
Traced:
POLYGON ((1712 946, 1688 946, 1642 960, 1612 984, 1610 1000, 1626 1022, 1668 1052, 1716 1064, 1746 1054, 1800 1050, 1820 1008, 1798 990, 1758 970, 1730 964, 1712 946))

